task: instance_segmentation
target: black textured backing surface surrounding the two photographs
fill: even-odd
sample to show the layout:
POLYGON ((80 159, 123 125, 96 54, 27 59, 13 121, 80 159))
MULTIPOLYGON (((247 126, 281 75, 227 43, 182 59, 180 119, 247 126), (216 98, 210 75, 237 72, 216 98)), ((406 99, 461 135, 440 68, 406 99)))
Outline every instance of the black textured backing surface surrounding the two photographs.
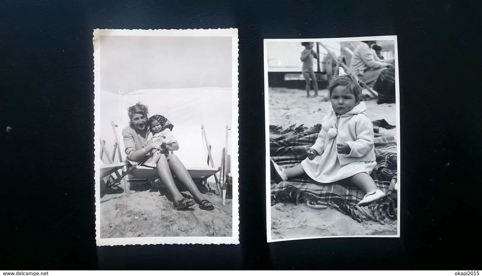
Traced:
POLYGON ((1 268, 475 269, 482 233, 475 2, 1 0, 1 268), (239 29, 241 244, 96 247, 92 29, 218 27, 239 29), (402 238, 268 245, 263 38, 393 34, 402 238))

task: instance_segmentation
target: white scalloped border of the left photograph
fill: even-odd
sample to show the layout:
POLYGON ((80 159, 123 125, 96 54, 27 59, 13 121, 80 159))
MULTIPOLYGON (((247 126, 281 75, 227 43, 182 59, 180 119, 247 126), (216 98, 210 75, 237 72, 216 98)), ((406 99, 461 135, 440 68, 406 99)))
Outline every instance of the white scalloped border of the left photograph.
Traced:
POLYGON ((94 183, 95 183, 95 240, 97 246, 144 244, 239 244, 239 90, 238 90, 238 29, 94 29, 94 183), (231 237, 100 237, 100 36, 166 36, 166 37, 231 37, 232 38, 232 236, 231 237))

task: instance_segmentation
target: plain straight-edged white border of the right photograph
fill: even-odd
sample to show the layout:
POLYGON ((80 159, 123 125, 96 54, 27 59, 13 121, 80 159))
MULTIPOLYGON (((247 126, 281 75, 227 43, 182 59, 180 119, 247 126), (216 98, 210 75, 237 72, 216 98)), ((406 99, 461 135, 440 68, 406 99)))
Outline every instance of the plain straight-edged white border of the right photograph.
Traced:
MULTIPOLYGON (((363 41, 363 40, 394 40, 395 42, 395 100, 396 100, 396 122, 397 122, 397 181, 400 183, 402 175, 400 174, 401 168, 401 139, 400 139, 400 87, 399 87, 399 70, 398 70, 398 42, 397 36, 374 36, 374 37, 352 37, 352 38, 269 38, 264 39, 263 43, 263 60, 264 60, 264 80, 265 80, 265 146, 266 146, 266 235, 268 242, 297 240, 297 239, 312 239, 312 238, 400 238, 400 195, 402 188, 399 188, 397 192, 397 235, 365 235, 365 236, 313 236, 313 237, 300 237, 300 238, 271 238, 271 186, 270 186, 270 174, 269 174, 269 97, 268 97, 268 42, 330 42, 330 41, 363 41)), ((400 185, 401 187, 401 185, 400 185)))

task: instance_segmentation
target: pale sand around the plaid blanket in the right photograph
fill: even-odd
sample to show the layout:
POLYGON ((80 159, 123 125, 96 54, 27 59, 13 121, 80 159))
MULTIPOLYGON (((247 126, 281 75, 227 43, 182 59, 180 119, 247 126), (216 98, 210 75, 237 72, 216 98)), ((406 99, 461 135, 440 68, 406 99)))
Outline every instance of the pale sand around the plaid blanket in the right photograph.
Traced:
MULTIPOLYGON (((311 95, 313 95, 311 90, 311 95)), ((306 91, 289 88, 269 88, 269 124, 283 128, 290 125, 307 127, 319 124, 323 116, 332 110, 328 101, 328 89, 319 91, 318 97, 306 97, 306 91)), ((396 125, 396 105, 376 104, 376 100, 365 101, 367 113, 372 121, 385 119, 396 125)), ((380 128, 380 133, 396 138, 396 128, 380 128)), ((302 238, 321 236, 365 236, 396 235, 397 221, 388 225, 366 221, 359 223, 335 209, 312 209, 306 204, 278 203, 271 206, 271 237, 302 238)))

